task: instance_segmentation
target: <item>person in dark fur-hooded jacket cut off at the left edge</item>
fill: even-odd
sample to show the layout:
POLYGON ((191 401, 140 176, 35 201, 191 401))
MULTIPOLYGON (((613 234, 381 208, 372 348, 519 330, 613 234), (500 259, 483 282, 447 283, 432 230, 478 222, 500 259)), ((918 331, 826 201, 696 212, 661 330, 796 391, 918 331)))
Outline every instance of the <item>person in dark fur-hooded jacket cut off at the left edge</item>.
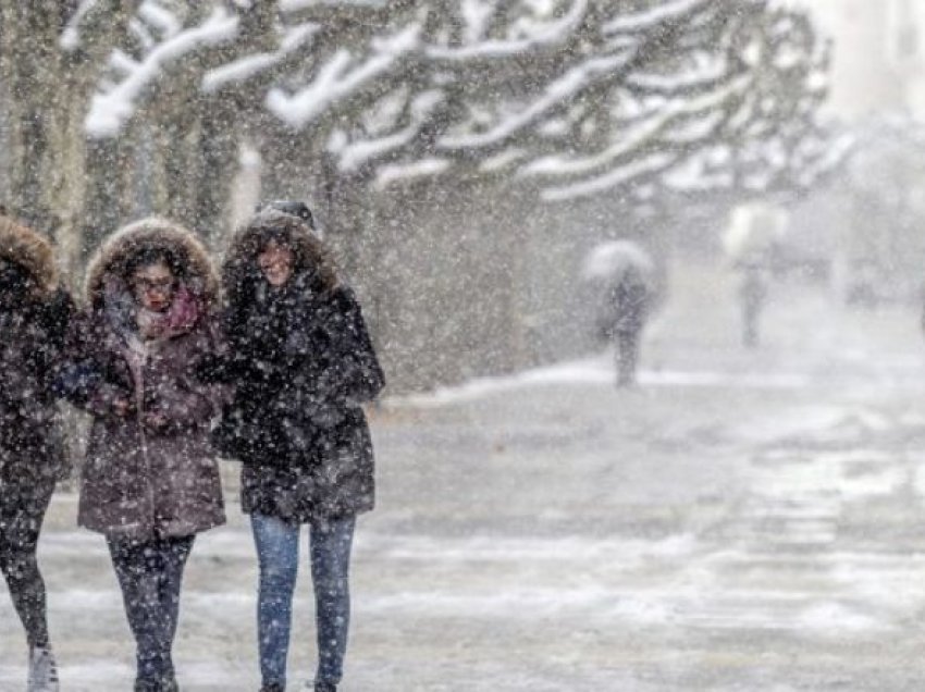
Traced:
POLYGON ((0 571, 29 645, 29 692, 58 690, 36 545, 63 468, 51 392, 73 312, 51 246, 0 215, 0 571))

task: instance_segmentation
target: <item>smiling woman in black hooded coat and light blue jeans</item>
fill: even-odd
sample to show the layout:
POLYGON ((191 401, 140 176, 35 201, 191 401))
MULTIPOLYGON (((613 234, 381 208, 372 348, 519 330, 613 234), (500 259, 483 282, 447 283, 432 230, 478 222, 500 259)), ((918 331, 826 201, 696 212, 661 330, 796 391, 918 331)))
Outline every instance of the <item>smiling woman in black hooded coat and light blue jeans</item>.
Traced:
POLYGON ((303 219, 258 213, 222 272, 229 345, 220 378, 234 400, 215 440, 238 458, 242 506, 260 560, 263 690, 284 690, 300 524, 309 526, 318 621, 314 689, 341 680, 349 621, 355 518, 374 503, 361 404, 384 385, 353 291, 303 219))

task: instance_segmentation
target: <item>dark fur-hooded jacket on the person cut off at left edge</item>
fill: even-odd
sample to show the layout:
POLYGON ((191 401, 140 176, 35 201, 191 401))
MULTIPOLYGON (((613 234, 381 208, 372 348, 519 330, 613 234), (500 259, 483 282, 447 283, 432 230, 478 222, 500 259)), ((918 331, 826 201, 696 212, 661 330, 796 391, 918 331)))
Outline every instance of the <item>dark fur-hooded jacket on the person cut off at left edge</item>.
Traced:
POLYGON ((65 468, 52 382, 73 311, 49 243, 0 215, 0 496, 65 468))

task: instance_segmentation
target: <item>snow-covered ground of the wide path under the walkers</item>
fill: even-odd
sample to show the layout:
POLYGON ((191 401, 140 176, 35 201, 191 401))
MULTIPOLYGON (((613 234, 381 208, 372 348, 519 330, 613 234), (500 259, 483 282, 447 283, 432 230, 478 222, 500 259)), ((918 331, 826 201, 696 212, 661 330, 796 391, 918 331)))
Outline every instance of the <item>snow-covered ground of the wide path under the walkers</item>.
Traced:
MULTIPOLYGON (((778 288, 757 353, 728 277, 689 269, 641 386, 608 354, 374 415, 345 692, 920 690, 925 357, 917 313, 778 288)), ((176 644, 189 691, 256 690, 256 565, 235 502, 194 549, 176 644)), ((61 492, 40 557, 69 691, 125 690, 102 540, 61 492)), ((298 588, 292 681, 313 666, 298 588)), ((25 653, 0 597, 0 690, 25 653)))

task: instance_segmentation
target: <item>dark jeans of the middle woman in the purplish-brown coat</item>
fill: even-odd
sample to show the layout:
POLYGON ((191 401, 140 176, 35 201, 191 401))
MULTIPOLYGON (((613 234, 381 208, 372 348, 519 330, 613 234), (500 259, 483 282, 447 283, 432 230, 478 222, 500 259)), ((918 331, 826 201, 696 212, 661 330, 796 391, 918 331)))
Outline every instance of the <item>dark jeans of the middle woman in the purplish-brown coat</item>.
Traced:
POLYGON ((150 541, 107 541, 128 627, 135 637, 139 683, 174 679, 173 638, 180 615, 183 568, 194 536, 150 541))

